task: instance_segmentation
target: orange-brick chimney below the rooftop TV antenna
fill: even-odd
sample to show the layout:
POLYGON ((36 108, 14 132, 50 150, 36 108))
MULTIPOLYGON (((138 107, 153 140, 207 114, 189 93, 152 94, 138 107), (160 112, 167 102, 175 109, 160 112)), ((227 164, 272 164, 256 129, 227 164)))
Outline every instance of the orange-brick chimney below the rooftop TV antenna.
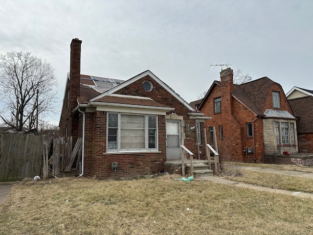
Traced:
POLYGON ((233 70, 227 68, 220 73, 221 75, 221 102, 222 113, 232 114, 231 92, 234 90, 233 70))

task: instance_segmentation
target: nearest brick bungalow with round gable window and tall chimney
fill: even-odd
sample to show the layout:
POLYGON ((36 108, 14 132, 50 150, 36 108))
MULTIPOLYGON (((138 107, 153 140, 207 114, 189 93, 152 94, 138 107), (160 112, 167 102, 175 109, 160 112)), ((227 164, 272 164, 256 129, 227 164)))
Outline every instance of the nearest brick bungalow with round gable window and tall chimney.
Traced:
POLYGON ((82 75, 81 43, 73 39, 70 46, 60 132, 72 136, 73 143, 83 137, 82 174, 109 178, 162 172, 167 160, 180 159, 181 144, 205 159, 196 135, 204 114, 149 70, 127 81, 82 75))

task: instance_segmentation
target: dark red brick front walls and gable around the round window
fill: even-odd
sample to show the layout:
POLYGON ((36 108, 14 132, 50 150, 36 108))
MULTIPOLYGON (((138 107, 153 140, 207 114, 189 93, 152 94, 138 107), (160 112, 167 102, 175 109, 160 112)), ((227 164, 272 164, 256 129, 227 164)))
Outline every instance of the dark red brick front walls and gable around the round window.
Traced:
MULTIPOLYGON (((154 79, 146 76, 129 86, 119 90, 116 94, 148 96, 159 103, 175 107, 175 112, 183 116, 185 126, 196 126, 195 119, 190 119, 187 115, 190 112, 174 96, 163 89, 154 79), (142 82, 149 80, 154 89, 146 92, 142 88, 142 82)), ((145 175, 163 172, 164 162, 166 161, 166 127, 165 116, 158 115, 158 151, 155 153, 106 153, 107 152, 107 112, 94 111, 86 113, 86 138, 85 138, 85 175, 96 178, 126 177, 135 175, 145 175), (116 171, 112 171, 112 162, 118 163, 116 171)), ((201 128, 203 128, 201 123, 201 128)), ((186 133, 186 127, 184 127, 186 133)), ((202 137, 204 144, 204 137, 202 137)), ((196 145, 196 129, 190 131, 189 136, 185 136, 185 146, 198 156, 196 145), (189 140, 188 140, 189 139, 189 140)), ((205 149, 201 146, 201 158, 205 159, 205 149)))

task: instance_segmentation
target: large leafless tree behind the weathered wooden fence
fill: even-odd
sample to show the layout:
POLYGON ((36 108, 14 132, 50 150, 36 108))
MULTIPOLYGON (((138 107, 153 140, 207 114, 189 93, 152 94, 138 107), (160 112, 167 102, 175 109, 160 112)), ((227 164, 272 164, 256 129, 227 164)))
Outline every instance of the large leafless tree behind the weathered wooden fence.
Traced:
POLYGON ((38 128, 40 118, 55 112, 57 80, 52 66, 30 52, 0 55, 0 118, 16 131, 38 128))

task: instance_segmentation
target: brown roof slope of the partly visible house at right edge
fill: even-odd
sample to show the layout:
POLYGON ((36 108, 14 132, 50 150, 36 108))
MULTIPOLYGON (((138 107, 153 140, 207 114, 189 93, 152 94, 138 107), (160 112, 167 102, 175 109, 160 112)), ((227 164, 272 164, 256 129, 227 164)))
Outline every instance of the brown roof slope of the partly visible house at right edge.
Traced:
POLYGON ((313 95, 288 100, 292 110, 299 116, 298 133, 313 133, 313 95))

